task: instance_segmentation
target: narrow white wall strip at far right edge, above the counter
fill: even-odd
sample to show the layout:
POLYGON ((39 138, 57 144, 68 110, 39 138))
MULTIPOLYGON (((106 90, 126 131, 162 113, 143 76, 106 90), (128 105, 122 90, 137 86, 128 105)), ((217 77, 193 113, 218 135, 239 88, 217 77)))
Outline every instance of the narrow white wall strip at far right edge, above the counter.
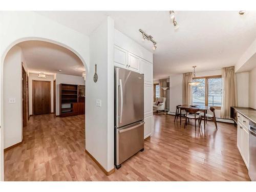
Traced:
POLYGON ((256 67, 249 72, 249 107, 256 109, 256 67))

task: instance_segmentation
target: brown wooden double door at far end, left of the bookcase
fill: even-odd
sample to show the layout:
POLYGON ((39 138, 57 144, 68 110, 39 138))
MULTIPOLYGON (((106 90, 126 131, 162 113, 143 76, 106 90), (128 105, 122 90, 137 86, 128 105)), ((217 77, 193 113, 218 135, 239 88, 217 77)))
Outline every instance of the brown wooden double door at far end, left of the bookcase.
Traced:
POLYGON ((33 80, 33 114, 51 113, 51 81, 33 80))

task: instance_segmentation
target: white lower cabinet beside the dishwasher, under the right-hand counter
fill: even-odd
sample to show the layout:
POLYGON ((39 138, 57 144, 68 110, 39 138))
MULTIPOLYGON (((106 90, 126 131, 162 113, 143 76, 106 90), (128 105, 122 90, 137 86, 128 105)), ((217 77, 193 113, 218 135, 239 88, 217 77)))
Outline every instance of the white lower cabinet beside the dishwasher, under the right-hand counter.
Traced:
MULTIPOLYGON (((238 116, 242 116, 238 113, 238 116)), ((238 137, 237 137, 237 146, 239 152, 244 160, 246 167, 249 167, 249 127, 247 126, 247 121, 245 117, 242 117, 242 121, 238 118, 238 137)))

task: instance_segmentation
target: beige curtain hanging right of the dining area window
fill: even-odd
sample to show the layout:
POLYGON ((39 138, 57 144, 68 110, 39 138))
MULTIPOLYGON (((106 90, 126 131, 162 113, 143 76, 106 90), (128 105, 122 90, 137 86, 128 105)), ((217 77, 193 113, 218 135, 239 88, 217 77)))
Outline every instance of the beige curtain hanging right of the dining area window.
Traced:
POLYGON ((230 119, 230 106, 237 106, 237 81, 234 67, 222 68, 221 118, 230 119))

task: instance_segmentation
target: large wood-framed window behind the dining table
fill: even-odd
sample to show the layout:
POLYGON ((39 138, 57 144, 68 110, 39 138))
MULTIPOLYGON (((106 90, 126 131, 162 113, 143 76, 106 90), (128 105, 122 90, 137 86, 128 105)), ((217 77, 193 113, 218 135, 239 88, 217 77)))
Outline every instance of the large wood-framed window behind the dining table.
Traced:
POLYGON ((193 81, 200 81, 198 86, 193 86, 193 104, 221 107, 222 78, 221 76, 199 77, 193 81))

